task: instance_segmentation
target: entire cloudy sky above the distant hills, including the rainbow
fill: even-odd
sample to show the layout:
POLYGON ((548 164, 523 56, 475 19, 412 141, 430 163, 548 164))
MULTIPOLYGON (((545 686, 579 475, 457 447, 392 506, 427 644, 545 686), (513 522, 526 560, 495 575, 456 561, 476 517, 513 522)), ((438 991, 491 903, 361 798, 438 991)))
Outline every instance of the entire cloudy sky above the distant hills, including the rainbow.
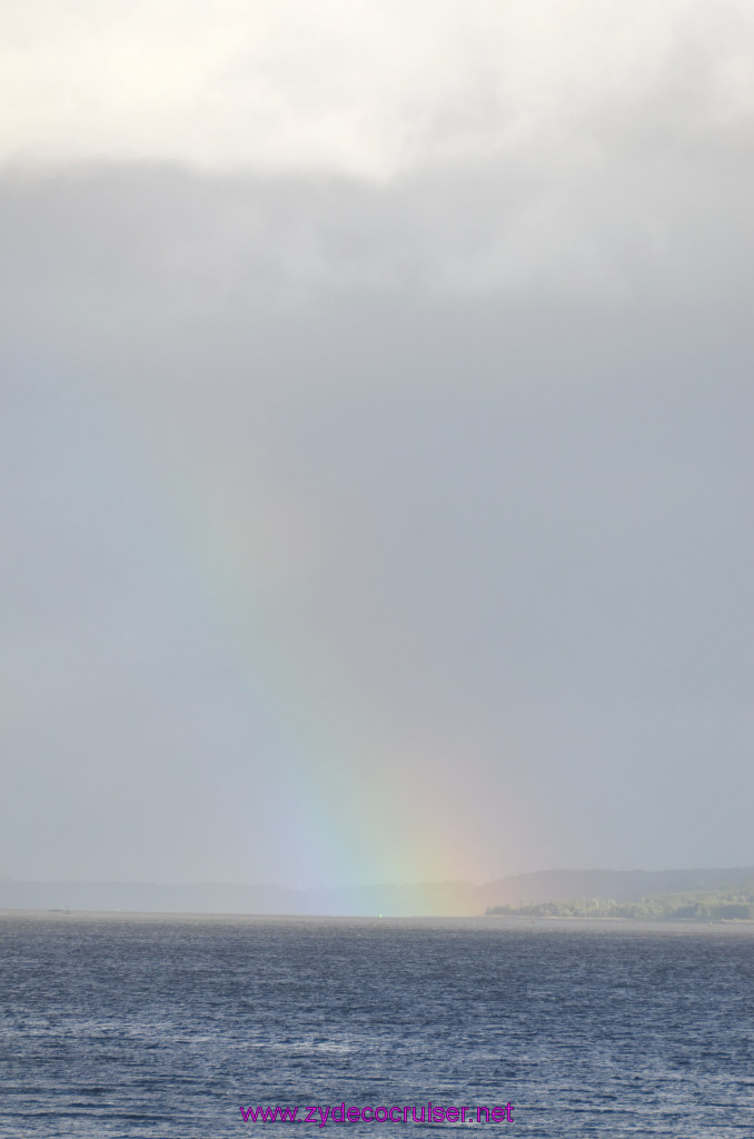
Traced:
POLYGON ((0 8, 0 877, 754 863, 754 10, 0 8))

